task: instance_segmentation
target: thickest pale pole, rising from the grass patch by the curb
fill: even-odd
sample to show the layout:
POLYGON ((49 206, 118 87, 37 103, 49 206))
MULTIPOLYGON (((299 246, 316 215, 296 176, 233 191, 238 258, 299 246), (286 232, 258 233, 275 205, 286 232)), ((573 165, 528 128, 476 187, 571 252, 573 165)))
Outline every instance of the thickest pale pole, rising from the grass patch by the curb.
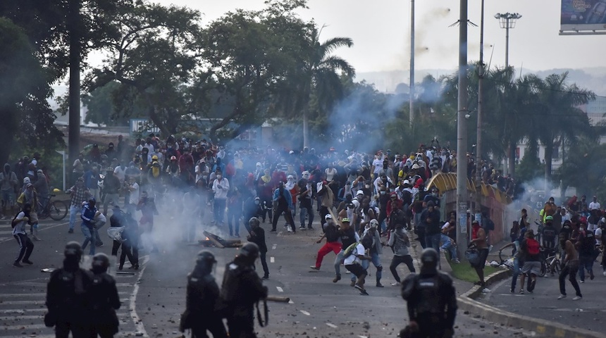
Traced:
POLYGON ((459 13, 459 100, 457 108, 457 246, 467 248, 467 0, 460 0, 459 13))

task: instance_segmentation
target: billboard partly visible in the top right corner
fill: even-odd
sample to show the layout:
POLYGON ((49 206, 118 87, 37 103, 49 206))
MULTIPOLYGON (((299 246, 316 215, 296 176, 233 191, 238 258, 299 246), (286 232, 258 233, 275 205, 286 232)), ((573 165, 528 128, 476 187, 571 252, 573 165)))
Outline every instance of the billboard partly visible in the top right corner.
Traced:
POLYGON ((606 0, 562 0, 560 32, 571 31, 606 32, 606 0))

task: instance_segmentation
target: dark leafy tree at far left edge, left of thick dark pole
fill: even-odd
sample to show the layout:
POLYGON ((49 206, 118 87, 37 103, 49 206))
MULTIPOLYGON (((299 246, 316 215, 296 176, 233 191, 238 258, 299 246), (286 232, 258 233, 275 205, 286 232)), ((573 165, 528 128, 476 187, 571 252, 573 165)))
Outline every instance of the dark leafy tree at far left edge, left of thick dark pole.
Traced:
POLYGON ((0 18, 0 46, 0 161, 5 163, 16 143, 51 146, 63 141, 47 102, 50 75, 24 30, 7 18, 0 18))

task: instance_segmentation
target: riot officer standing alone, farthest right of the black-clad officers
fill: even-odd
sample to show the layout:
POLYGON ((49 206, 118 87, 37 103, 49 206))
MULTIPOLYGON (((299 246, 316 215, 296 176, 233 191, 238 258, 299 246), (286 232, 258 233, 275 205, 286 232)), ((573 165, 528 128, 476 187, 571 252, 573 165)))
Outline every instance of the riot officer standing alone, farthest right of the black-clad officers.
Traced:
POLYGON ((457 294, 450 276, 438 272, 438 259, 435 249, 424 249, 421 273, 408 275, 402 282, 410 323, 400 337, 450 338, 455 332, 457 294))

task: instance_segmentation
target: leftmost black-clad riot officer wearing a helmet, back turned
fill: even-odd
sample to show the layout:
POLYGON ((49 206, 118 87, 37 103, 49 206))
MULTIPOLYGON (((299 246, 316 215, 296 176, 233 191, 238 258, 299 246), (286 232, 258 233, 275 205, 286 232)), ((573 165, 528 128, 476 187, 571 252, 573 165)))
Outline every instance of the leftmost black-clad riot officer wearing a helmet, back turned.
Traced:
POLYGON ((80 268, 82 246, 69 242, 63 251, 63 268, 54 270, 47 286, 47 327, 55 327, 56 338, 90 338, 89 289, 93 275, 80 268))

